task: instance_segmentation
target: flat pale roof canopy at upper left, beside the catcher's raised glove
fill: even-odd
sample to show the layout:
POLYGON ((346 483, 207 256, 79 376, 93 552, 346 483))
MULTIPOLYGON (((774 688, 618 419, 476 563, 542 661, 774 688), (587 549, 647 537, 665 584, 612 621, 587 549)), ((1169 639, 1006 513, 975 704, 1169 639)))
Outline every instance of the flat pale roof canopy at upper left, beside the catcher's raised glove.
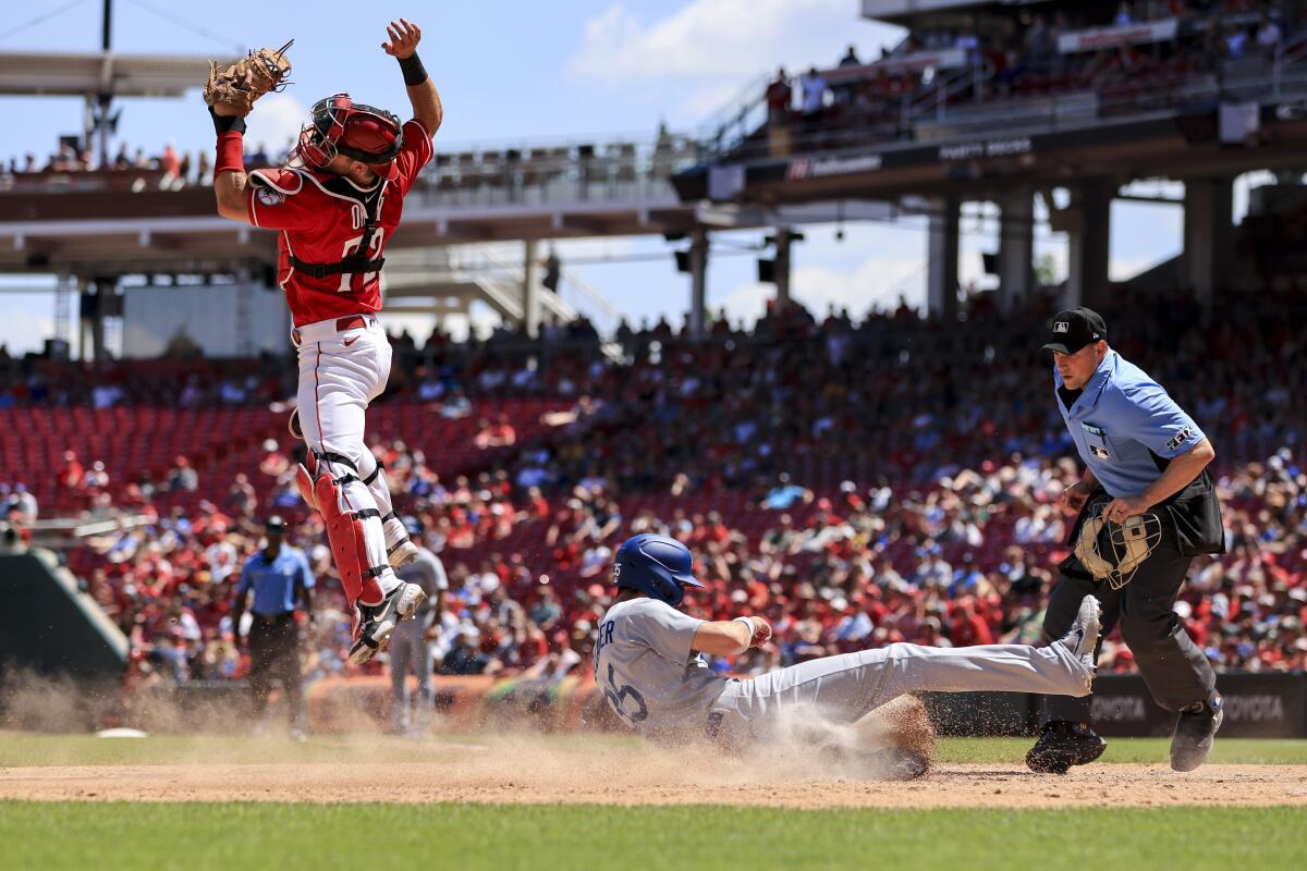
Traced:
POLYGON ((180 97, 204 82, 208 59, 116 52, 0 52, 0 94, 180 97))

